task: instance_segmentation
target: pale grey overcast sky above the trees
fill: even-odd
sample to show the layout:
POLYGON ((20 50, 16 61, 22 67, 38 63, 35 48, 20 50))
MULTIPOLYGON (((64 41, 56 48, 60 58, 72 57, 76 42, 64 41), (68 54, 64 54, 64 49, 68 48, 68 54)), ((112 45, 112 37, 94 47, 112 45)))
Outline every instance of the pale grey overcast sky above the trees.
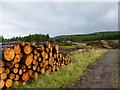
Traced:
POLYGON ((5 38, 118 30, 117 2, 0 3, 0 34, 5 38))

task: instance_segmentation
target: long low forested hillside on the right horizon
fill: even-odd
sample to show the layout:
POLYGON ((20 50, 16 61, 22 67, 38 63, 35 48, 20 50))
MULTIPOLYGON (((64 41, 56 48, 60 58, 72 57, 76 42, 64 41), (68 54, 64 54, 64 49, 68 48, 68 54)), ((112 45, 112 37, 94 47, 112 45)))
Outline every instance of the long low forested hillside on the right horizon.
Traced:
POLYGON ((53 40, 57 42, 63 40, 80 42, 80 41, 116 40, 116 39, 120 39, 120 31, 96 32, 91 34, 79 34, 79 35, 63 35, 53 38, 53 40))

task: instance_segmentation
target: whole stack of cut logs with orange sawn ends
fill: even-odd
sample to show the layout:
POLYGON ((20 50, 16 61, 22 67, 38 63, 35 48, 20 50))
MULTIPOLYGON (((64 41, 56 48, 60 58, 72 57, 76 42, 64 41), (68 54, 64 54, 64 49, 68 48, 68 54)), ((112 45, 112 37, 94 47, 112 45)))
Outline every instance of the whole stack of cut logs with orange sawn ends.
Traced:
POLYGON ((26 85, 30 78, 51 73, 70 63, 67 55, 59 53, 58 45, 21 42, 5 48, 0 60, 0 88, 26 85))

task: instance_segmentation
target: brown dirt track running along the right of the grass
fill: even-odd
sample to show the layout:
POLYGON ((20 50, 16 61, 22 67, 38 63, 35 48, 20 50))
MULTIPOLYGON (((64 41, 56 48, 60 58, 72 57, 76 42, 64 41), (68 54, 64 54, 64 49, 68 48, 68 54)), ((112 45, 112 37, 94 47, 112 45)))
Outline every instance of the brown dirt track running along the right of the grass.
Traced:
POLYGON ((118 54, 118 51, 109 50, 99 60, 98 65, 92 67, 92 72, 80 77, 76 82, 68 84, 67 88, 116 88, 113 71, 118 69, 118 66, 113 62, 112 54, 114 53, 118 54))

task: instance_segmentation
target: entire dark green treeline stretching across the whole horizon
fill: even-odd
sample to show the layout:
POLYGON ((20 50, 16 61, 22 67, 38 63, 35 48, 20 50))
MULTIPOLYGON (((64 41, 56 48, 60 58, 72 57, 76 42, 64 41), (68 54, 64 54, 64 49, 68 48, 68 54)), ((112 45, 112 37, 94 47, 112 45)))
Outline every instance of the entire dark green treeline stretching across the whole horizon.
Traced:
POLYGON ((61 42, 65 40, 80 42, 80 41, 95 41, 95 40, 118 40, 120 39, 120 31, 111 31, 111 32, 96 32, 91 34, 78 34, 78 35, 62 35, 54 38, 50 38, 49 34, 30 34, 24 37, 13 37, 10 39, 4 39, 2 37, 3 42, 10 41, 50 41, 50 42, 61 42))

